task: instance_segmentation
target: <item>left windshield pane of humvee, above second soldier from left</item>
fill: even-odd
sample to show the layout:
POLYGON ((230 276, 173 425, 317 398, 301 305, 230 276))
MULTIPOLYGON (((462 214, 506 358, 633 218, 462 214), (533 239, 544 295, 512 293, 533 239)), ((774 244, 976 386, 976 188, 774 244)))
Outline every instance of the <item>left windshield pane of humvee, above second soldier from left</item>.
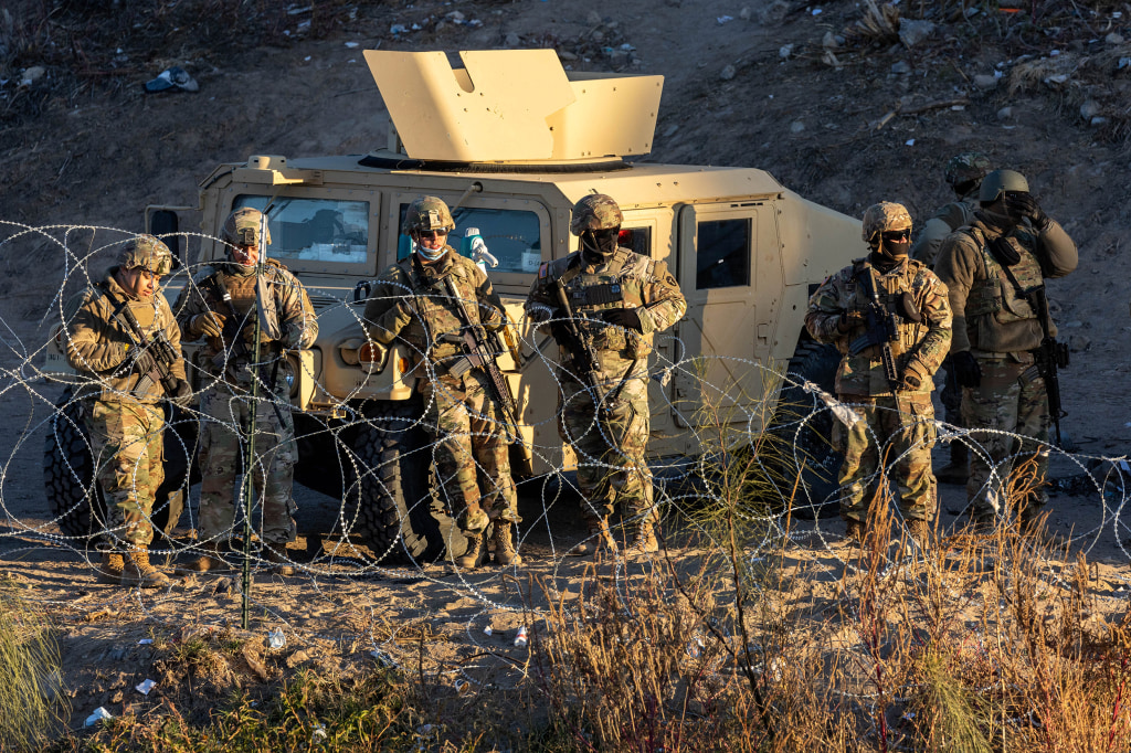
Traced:
MULTIPOLYGON (((232 208, 262 210, 267 197, 240 196, 232 208)), ((279 197, 267 213, 270 256, 293 261, 365 261, 369 248, 369 201, 279 197)))

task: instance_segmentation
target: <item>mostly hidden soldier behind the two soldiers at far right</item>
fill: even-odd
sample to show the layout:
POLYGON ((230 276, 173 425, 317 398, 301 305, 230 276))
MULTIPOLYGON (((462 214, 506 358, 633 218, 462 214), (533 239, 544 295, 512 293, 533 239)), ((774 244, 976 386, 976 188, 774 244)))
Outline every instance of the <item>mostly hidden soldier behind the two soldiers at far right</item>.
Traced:
MULTIPOLYGON (((939 246, 948 235, 974 222, 974 209, 978 205, 978 188, 982 179, 991 170, 990 159, 977 152, 966 152, 947 163, 946 180, 955 190, 957 201, 941 207, 931 219, 926 220, 918 237, 912 244, 912 259, 922 261, 934 269, 939 246)), ((958 386, 955 369, 950 360, 942 362, 946 382, 942 390, 942 406, 947 410, 947 423, 955 426, 962 424, 962 388, 958 386)), ((950 464, 934 474, 943 484, 965 484, 969 478, 969 449, 965 442, 950 442, 950 464)))

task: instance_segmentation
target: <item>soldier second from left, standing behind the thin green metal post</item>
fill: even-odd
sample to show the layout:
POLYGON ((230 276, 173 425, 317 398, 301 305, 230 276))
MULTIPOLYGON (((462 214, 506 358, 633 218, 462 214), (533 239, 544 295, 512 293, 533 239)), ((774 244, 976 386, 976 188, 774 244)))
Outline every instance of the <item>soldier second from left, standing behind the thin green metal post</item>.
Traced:
POLYGON ((262 555, 282 574, 293 573, 285 551, 296 533, 292 486, 299 449, 286 352, 313 344, 318 319, 297 277, 274 260, 258 263, 260 242, 264 246, 271 242, 262 218, 249 207, 228 215, 221 232, 227 261, 201 269, 175 305, 184 337, 205 340, 204 366, 213 376, 200 397, 202 481, 197 525, 204 554, 188 566, 197 572, 225 566, 218 545, 232 533, 235 476, 250 418, 251 380, 257 379, 253 482, 262 500, 262 555), (260 365, 252 367, 260 309, 260 365))

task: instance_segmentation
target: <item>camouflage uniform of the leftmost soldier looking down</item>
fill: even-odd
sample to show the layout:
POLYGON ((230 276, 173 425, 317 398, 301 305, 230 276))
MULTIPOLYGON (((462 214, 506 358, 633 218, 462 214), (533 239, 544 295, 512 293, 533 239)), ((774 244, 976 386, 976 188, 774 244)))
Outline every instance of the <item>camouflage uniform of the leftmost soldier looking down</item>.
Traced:
MULTIPOLYGON (((181 332, 159 291, 148 301, 131 297, 114 279, 118 271, 111 267, 105 279, 72 297, 64 322, 67 363, 92 378, 77 397, 106 497, 105 544, 122 551, 153 540, 154 494, 165 478, 165 413, 159 405, 165 391, 130 367, 127 353, 133 341, 113 311, 124 303, 147 335, 164 332, 178 356, 181 332)), ((184 361, 178 357, 171 372, 183 380, 184 361)))

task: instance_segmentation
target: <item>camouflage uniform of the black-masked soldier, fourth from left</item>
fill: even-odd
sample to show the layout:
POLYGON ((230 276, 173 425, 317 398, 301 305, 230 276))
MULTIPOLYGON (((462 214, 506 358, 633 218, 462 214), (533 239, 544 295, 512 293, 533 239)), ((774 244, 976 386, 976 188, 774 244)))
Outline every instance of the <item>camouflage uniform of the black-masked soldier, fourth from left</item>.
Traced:
POLYGON ((577 453, 581 514, 594 530, 595 521, 612 514, 620 502, 641 525, 655 523, 651 473, 645 460, 651 423, 648 354, 655 332, 674 324, 687 311, 687 301, 667 265, 625 248, 618 248, 603 265, 589 263, 581 251, 542 265, 526 303, 535 319, 568 317, 554 292, 559 283, 599 358, 598 407, 582 382, 582 362, 571 352, 572 340, 560 323, 551 323, 562 354, 558 430, 577 453), (603 314, 615 309, 636 309, 642 331, 605 323, 603 314))

